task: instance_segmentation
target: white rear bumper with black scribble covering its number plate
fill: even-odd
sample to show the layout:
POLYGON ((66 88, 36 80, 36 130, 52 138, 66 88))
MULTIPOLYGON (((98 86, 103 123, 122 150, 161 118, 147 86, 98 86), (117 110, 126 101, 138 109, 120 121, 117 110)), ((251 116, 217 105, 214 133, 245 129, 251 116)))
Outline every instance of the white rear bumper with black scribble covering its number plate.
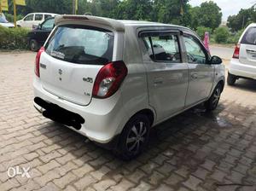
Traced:
MULTIPOLYGON (((90 105, 80 106, 70 101, 60 99, 44 90, 40 78, 34 79, 33 87, 35 98, 42 99, 55 107, 61 107, 61 109, 66 110, 70 115, 79 115, 78 121, 81 124, 79 127, 68 124, 70 120, 65 120, 64 122, 60 121, 60 115, 57 115, 58 119, 56 119, 56 121, 87 136, 91 141, 102 144, 109 143, 114 137, 119 135, 125 125, 126 115, 124 109, 122 109, 122 101, 120 101, 121 96, 119 92, 116 92, 116 94, 108 98, 108 101, 107 99, 102 100, 92 98, 90 105), (84 119, 84 123, 80 117, 84 119)), ((42 104, 40 104, 40 106, 36 102, 34 101, 34 107, 36 107, 40 113, 44 113, 44 111, 47 110, 47 107, 42 107, 42 104)), ((54 111, 60 110, 56 109, 54 111)), ((49 116, 49 113, 52 113, 52 111, 49 111, 46 114, 44 113, 44 116, 55 120, 56 114, 54 116, 49 116)), ((65 112, 64 114, 61 113, 61 116, 67 116, 66 114, 65 112)))

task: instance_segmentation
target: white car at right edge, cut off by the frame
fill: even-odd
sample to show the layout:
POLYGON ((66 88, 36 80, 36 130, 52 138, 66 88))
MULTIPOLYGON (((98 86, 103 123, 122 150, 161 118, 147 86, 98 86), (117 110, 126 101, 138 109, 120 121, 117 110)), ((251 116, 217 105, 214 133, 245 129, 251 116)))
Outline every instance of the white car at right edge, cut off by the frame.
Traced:
POLYGON ((230 61, 228 84, 234 85, 239 78, 256 79, 256 24, 247 26, 236 45, 230 61))

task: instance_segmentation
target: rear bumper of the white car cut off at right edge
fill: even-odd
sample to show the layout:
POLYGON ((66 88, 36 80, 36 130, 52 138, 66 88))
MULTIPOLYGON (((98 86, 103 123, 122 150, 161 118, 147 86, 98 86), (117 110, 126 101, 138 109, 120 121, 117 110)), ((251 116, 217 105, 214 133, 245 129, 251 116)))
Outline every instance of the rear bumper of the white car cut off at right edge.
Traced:
POLYGON ((256 79, 256 67, 242 64, 238 59, 231 59, 229 72, 238 77, 256 79))

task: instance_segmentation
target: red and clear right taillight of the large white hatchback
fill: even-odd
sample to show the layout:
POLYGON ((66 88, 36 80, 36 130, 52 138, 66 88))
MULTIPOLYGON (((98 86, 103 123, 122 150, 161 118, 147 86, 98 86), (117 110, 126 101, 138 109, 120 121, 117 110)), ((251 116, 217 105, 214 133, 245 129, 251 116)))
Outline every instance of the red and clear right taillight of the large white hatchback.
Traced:
POLYGON ((102 67, 96 76, 92 96, 107 98, 119 90, 120 84, 127 75, 124 61, 113 61, 102 67))

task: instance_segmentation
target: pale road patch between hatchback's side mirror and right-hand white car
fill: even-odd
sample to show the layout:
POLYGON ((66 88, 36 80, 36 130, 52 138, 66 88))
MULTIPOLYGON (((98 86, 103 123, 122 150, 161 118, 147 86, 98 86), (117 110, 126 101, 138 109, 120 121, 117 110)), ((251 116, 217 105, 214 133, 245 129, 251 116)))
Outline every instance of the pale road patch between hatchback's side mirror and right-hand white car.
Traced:
POLYGON ((210 46, 211 55, 218 55, 224 60, 230 60, 234 53, 234 48, 210 46))

